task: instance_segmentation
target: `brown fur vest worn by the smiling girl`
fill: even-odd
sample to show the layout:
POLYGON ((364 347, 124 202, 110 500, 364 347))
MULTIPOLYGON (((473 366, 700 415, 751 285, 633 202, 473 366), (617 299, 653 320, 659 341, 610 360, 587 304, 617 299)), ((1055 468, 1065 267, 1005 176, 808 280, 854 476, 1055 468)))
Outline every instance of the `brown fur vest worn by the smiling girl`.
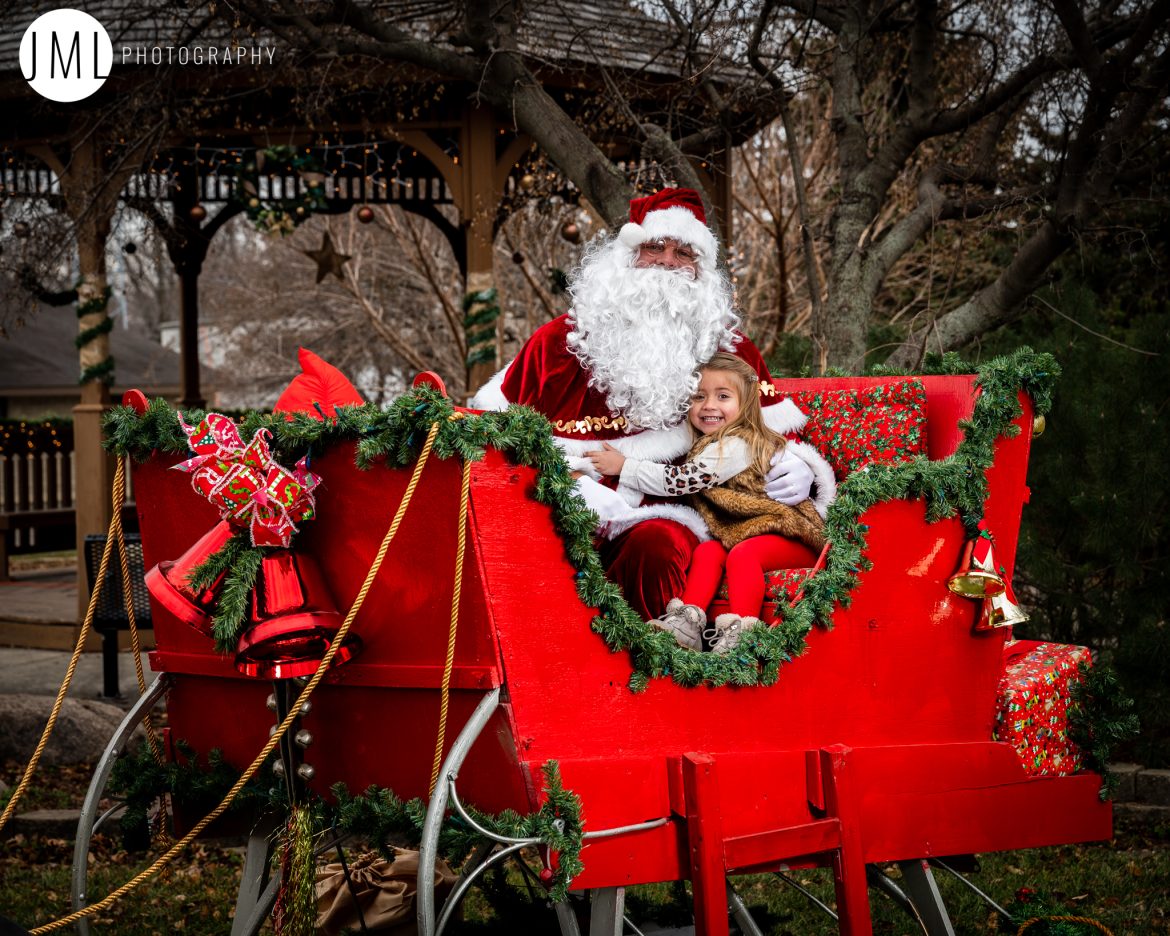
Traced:
POLYGON ((764 479, 752 468, 717 488, 690 496, 711 536, 727 549, 752 536, 777 534, 804 543, 813 552, 825 546, 825 522, 812 501, 796 507, 777 503, 764 494, 764 479))

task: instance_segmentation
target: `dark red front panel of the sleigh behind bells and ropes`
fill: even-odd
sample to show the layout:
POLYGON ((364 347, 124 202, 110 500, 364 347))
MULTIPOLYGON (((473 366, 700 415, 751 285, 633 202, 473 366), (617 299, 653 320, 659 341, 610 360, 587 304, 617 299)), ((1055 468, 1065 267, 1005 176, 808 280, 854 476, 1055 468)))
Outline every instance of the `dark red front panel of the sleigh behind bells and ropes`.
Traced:
MULTIPOLYGON (((218 521, 209 504, 192 493, 186 476, 167 470, 174 461, 152 460, 136 469, 147 567, 178 557, 218 521)), ((385 464, 359 470, 352 446, 330 450, 315 460, 314 469, 325 479, 318 490, 318 516, 304 524, 294 548, 315 557, 344 615, 411 473, 385 464)), ((316 772, 310 786, 322 794, 344 782, 353 792, 378 784, 404 798, 427 796, 450 628, 459 474, 455 461, 429 460, 417 500, 355 619, 351 633, 360 649, 352 661, 326 674, 311 711, 301 721, 314 737, 304 751, 305 763, 316 772)), ((158 603, 152 611, 157 649, 151 665, 173 681, 167 713, 172 737, 201 756, 215 748, 228 763, 247 765, 276 721, 264 704, 271 684, 241 675, 232 655, 216 652, 209 638, 158 603), (233 730, 223 731, 225 724, 233 730)), ((502 683, 489 625, 479 565, 468 560, 445 750, 483 694, 502 683)), ((484 730, 464 773, 476 791, 474 801, 483 808, 531 808, 507 706, 484 730)))

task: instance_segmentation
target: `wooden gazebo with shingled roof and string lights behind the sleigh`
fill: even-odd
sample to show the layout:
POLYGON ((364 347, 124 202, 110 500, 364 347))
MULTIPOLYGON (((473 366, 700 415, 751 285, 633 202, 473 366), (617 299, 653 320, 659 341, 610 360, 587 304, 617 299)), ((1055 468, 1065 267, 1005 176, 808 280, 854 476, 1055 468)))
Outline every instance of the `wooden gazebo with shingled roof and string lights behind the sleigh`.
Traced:
MULTIPOLYGON (((391 13, 401 7, 404 18, 411 13, 398 0, 377 6, 391 13)), ((119 200, 152 218, 167 242, 181 283, 180 402, 200 406, 199 274, 212 238, 229 218, 255 211, 257 204, 304 199, 310 188, 317 212, 395 204, 445 234, 466 289, 480 290, 493 282, 495 233, 542 160, 509 115, 481 103, 474 88, 380 62, 330 67, 323 78, 332 88, 329 129, 322 129, 323 115, 312 112, 300 94, 314 66, 295 61, 276 37, 198 20, 197 13, 205 16, 205 11, 177 11, 157 0, 89 5, 112 40, 113 68, 94 97, 53 104, 16 68, 21 36, 40 12, 29 0, 0 26, 0 63, 11 63, 0 66, 0 183, 5 200, 53 200, 69 215, 77 240, 77 302, 90 302, 90 311, 78 309, 80 328, 88 332, 81 367, 83 376, 95 377, 82 383, 74 410, 80 542, 103 531, 109 518, 111 466, 99 447, 101 417, 109 405, 101 379, 108 358, 101 333, 105 310, 94 297, 106 288, 105 241, 119 200), (197 48, 271 50, 263 57, 273 64, 267 71, 263 66, 227 71, 176 66, 173 50, 180 48, 188 49, 188 61, 197 48), (161 57, 158 49, 172 50, 171 66, 152 62, 161 57), (454 206, 457 222, 441 206, 454 206)), ((424 28, 422 16, 417 11, 412 15, 424 28)), ((534 69, 570 112, 598 98, 600 69, 633 75, 647 102, 655 98, 655 88, 661 97, 666 83, 679 76, 680 54, 662 51, 667 25, 621 0, 578 5, 572 22, 556 5, 534 5, 524 27, 521 41, 531 43, 538 62, 534 69), (550 62, 549 49, 562 58, 550 62)), ((636 95, 631 102, 638 105, 636 95)), ((620 129, 591 128, 615 161, 633 154, 620 129)), ((724 138, 694 160, 724 239, 730 234, 731 142, 724 138)), ((570 185, 553 184, 576 195, 570 185)), ((497 364, 482 363, 469 383, 497 364)))

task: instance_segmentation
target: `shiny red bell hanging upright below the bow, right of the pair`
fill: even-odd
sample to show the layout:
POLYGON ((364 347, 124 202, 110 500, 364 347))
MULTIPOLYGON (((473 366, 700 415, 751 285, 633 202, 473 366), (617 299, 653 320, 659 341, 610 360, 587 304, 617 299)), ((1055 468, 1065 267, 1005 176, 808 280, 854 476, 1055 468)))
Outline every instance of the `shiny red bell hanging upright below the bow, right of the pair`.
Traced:
MULTIPOLYGON (((240 636, 235 668, 248 676, 287 680, 317 672, 342 626, 321 570, 311 556, 282 549, 266 556, 252 597, 252 625, 240 636)), ((333 665, 358 647, 338 647, 333 665)))

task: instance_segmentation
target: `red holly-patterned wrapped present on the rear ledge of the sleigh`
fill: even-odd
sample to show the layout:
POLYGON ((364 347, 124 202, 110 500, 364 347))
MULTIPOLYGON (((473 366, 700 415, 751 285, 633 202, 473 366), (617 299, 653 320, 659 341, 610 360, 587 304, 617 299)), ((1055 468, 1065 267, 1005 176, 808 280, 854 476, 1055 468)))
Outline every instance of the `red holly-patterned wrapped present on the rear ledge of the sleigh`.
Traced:
POLYGON ((1020 640, 1005 648, 994 738, 1016 749, 1031 777, 1062 777, 1082 766, 1068 739, 1071 687, 1082 662, 1092 663, 1087 647, 1020 640))

